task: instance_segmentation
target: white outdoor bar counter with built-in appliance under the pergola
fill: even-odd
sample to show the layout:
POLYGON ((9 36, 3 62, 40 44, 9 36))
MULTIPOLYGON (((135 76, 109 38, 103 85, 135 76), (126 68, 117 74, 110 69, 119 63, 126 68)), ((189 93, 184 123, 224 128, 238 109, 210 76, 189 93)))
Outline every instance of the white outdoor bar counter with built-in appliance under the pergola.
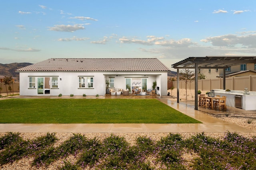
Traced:
POLYGON ((226 96, 226 106, 236 107, 235 96, 239 96, 242 99, 242 109, 244 110, 256 110, 256 92, 247 92, 241 90, 231 90, 231 92, 225 92, 221 89, 213 89, 214 94, 220 96, 226 96))

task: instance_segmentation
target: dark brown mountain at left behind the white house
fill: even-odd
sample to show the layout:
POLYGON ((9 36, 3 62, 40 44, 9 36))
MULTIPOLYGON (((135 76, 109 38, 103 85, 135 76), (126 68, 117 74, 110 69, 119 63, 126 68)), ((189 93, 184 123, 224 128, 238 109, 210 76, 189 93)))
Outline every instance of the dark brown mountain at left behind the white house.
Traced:
POLYGON ((1 64, 0 63, 0 75, 2 76, 12 76, 19 79, 19 73, 15 72, 18 68, 29 66, 32 63, 10 63, 10 64, 1 64))

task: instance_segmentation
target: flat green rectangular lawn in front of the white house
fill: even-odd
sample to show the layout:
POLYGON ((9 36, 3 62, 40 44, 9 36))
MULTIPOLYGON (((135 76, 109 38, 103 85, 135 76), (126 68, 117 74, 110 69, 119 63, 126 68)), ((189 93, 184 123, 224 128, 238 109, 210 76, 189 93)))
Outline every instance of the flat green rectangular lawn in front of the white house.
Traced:
POLYGON ((201 123, 156 99, 8 99, 0 109, 0 123, 201 123))

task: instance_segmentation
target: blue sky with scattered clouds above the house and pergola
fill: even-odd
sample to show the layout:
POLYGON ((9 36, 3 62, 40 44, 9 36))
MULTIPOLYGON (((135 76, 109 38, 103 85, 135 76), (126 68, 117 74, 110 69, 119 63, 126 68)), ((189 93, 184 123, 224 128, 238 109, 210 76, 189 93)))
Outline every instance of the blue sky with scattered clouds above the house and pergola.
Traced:
POLYGON ((255 0, 1 0, 0 63, 256 54, 255 0))

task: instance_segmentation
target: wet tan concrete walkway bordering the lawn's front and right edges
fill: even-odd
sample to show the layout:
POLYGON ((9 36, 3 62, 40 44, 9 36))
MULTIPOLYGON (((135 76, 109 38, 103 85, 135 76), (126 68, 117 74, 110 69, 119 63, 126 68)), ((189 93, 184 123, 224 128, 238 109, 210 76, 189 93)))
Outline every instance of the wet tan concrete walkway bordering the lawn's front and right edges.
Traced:
POLYGON ((201 121, 186 124, 0 124, 0 132, 20 133, 185 133, 185 132, 254 132, 233 123, 222 121, 194 109, 192 102, 173 102, 168 98, 156 97, 174 109, 201 121))

